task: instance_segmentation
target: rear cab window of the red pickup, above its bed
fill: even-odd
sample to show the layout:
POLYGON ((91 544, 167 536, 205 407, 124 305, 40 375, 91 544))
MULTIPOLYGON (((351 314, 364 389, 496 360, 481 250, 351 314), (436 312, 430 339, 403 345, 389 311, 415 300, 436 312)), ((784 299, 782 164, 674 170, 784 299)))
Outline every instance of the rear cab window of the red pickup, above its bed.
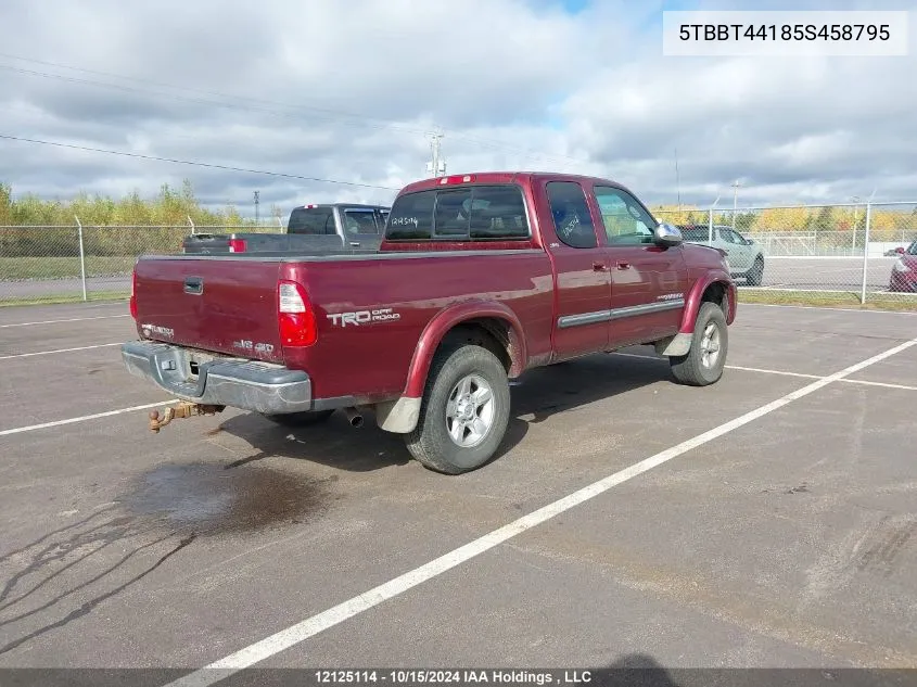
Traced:
POLYGON ((528 220, 518 186, 466 186, 407 193, 395 200, 390 241, 527 239, 528 220))

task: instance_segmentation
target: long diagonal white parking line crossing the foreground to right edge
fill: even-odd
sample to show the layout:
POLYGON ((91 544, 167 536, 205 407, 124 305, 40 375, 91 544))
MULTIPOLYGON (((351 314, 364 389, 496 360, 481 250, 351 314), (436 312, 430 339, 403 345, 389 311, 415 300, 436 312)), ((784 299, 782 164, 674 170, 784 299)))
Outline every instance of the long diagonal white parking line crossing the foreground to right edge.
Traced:
POLYGON ((499 544, 522 534, 526 530, 531 530, 532 527, 535 527, 543 522, 574 508, 575 506, 595 498, 617 484, 632 480, 648 470, 652 470, 673 458, 697 448, 698 446, 702 446, 714 438, 728 434, 729 432, 733 432, 753 420, 782 408, 793 400, 807 396, 808 394, 827 386, 831 382, 836 382, 850 374, 858 372, 859 370, 879 362, 880 360, 884 360, 896 353, 901 353, 915 344, 917 344, 917 339, 900 344, 894 348, 886 351, 884 353, 880 353, 871 358, 863 360, 862 362, 852 365, 840 372, 835 372, 833 374, 816 380, 807 386, 803 386, 802 389, 781 396, 777 400, 773 400, 751 410, 750 412, 746 412, 734 420, 729 420, 725 424, 721 424, 719 427, 709 430, 703 434, 699 434, 693 438, 682 442, 680 444, 641 460, 629 468, 625 468, 624 470, 610 474, 609 476, 599 480, 598 482, 594 482, 593 484, 589 484, 569 496, 556 500, 544 508, 539 508, 527 516, 523 516, 519 520, 504 525, 498 530, 494 530, 493 532, 485 534, 464 546, 449 551, 448 554, 441 556, 420 568, 416 568, 403 575, 398 575, 394 580, 381 584, 378 587, 373 587, 372 589, 348 599, 343 603, 339 603, 327 611, 313 615, 311 618, 307 618, 306 620, 296 623, 295 625, 291 625, 285 629, 281 629, 260 641, 256 641, 251 646, 240 649, 224 659, 189 673, 188 675, 169 683, 166 687, 206 687, 207 685, 213 685, 233 673, 280 653, 281 651, 284 651, 290 647, 308 639, 309 637, 314 637, 329 627, 333 627, 334 625, 354 618, 355 615, 358 615, 364 611, 382 603, 383 601, 404 594, 405 591, 408 591, 409 589, 423 584, 433 577, 442 575, 446 571, 451 570, 472 558, 481 556, 485 551, 488 551, 499 544))

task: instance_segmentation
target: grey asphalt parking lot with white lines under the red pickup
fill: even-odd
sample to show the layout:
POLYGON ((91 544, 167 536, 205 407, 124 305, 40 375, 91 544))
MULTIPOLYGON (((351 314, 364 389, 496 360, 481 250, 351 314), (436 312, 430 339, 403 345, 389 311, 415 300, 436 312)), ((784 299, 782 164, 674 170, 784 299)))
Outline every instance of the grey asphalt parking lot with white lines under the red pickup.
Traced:
POLYGON ((371 418, 154 435, 133 336, 0 308, 0 667, 917 666, 917 315, 741 305, 705 389, 535 370, 457 478, 371 418))

